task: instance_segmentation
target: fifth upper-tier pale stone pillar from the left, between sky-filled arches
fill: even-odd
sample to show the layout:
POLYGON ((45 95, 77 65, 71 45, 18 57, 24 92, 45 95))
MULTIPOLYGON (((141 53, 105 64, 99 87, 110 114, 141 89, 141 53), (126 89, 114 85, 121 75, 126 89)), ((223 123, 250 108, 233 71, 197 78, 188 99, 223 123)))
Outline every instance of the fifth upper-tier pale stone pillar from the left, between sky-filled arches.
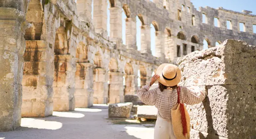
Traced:
POLYGON ((141 53, 151 53, 150 48, 150 26, 142 25, 141 26, 141 53))

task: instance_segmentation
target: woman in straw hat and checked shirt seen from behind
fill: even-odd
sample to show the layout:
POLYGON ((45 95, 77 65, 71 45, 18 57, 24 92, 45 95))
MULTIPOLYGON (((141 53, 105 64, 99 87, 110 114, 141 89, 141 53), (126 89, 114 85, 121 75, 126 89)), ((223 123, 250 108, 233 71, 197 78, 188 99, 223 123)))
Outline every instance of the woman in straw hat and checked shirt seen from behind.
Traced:
MULTIPOLYGON (((173 64, 160 65, 151 82, 140 88, 137 92, 139 99, 147 105, 155 105, 158 115, 154 130, 154 139, 177 139, 174 135, 171 122, 171 109, 177 104, 178 94, 176 88, 181 81, 181 71, 173 64), (159 87, 149 90, 150 86, 159 81, 159 87)), ((199 88, 180 87, 180 101, 188 105, 200 103, 205 94, 199 88)))

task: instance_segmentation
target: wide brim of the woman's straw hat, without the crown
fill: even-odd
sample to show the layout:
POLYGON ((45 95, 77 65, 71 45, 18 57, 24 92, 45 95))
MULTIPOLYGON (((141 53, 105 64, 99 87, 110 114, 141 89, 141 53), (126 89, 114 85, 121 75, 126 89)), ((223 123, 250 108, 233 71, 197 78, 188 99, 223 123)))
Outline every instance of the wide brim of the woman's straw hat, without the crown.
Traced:
POLYGON ((168 86, 168 87, 171 87, 171 86, 175 86, 177 85, 180 81, 181 81, 181 70, 179 69, 178 66, 174 65, 174 67, 176 68, 176 72, 177 72, 177 76, 176 78, 174 78, 172 81, 167 81, 163 78, 163 74, 162 74, 162 71, 163 71, 163 68, 166 66, 166 65, 169 65, 168 63, 163 63, 161 64, 157 70, 156 70, 156 74, 159 75, 160 77, 157 79, 157 81, 159 81, 161 84, 165 85, 165 86, 168 86))

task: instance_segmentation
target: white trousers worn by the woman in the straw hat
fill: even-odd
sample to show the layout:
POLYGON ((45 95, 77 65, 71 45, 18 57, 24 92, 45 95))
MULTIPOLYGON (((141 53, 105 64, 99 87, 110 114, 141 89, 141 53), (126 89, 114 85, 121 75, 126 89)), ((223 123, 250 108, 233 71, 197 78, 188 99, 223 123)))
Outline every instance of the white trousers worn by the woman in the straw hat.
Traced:
POLYGON ((177 139, 172 128, 172 121, 157 117, 154 139, 177 139))

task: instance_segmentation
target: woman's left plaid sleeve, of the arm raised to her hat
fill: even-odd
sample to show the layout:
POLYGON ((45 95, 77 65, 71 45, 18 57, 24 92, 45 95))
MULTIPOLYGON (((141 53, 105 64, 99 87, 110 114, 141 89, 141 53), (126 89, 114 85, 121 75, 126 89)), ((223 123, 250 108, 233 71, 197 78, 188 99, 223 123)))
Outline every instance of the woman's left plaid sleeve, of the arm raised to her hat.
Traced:
POLYGON ((147 105, 155 105, 157 99, 157 89, 158 87, 149 90, 150 85, 147 84, 144 87, 140 88, 137 92, 138 98, 147 105))

